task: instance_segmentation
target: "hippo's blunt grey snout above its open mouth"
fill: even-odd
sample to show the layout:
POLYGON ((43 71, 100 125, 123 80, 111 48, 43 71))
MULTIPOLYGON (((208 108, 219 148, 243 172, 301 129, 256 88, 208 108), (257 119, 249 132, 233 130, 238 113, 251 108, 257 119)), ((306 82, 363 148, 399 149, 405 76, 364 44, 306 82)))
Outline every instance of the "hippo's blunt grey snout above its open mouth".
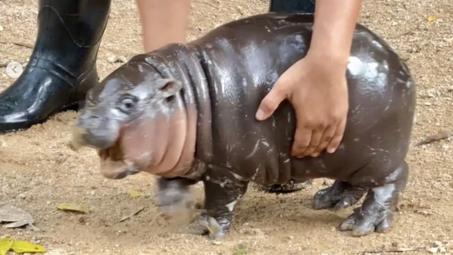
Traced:
POLYGON ((119 136, 119 124, 100 115, 85 112, 80 114, 73 131, 75 147, 95 149, 112 147, 119 136))

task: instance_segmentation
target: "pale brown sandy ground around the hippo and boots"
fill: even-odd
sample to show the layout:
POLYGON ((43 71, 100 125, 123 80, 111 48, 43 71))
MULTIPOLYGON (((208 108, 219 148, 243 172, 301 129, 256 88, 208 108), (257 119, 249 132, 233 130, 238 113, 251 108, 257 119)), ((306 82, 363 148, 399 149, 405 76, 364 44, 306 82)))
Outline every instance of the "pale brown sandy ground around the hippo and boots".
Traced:
MULTIPOLYGON (((267 10, 267 0, 194 0, 189 38, 224 22, 267 10)), ((0 41, 33 44, 35 1, 0 0, 0 41)), ((452 0, 364 0, 362 23, 386 39, 407 60, 418 85, 418 115, 413 142, 453 129, 452 0), (427 17, 435 15, 434 22, 427 17)), ((120 63, 109 56, 141 53, 141 29, 133 0, 113 0, 110 20, 99 50, 101 78, 120 63)), ((31 49, 0 44, 0 63, 26 62, 31 49)), ((13 82, 0 68, 1 89, 13 82)), ((394 247, 435 247, 443 242, 453 253, 453 139, 410 148, 406 193, 393 229, 387 234, 351 237, 336 228, 352 208, 340 212, 310 209, 322 179, 291 195, 250 189, 237 205, 230 234, 220 244, 184 234, 166 221, 153 202, 153 178, 138 174, 121 181, 97 172, 92 150, 78 153, 67 146, 75 112, 60 113, 24 132, 0 136, 0 206, 29 211, 41 231, 0 229, 0 237, 43 245, 48 254, 359 254, 394 247), (148 196, 130 198, 130 189, 148 196), (87 215, 57 210, 59 203, 86 203, 87 215), (137 208, 138 215, 119 220, 137 208)), ((414 144, 414 143, 413 143, 414 144)), ((330 183, 331 181, 328 181, 330 183)), ((194 188, 202 198, 202 186, 194 188)), ((428 251, 407 252, 427 254, 428 251)), ((382 254, 382 253, 381 253, 382 254)))

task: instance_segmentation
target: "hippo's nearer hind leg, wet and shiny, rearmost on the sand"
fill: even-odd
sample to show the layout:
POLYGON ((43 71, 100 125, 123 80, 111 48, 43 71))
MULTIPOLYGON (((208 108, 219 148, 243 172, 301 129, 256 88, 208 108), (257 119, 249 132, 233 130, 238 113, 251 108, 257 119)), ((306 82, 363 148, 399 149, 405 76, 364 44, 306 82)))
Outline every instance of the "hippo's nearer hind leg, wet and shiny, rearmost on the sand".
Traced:
POLYGON ((361 207, 355 208, 340 224, 341 231, 352 230, 354 236, 383 233, 391 228, 400 193, 404 192, 409 167, 405 161, 385 178, 385 184, 370 188, 361 207))

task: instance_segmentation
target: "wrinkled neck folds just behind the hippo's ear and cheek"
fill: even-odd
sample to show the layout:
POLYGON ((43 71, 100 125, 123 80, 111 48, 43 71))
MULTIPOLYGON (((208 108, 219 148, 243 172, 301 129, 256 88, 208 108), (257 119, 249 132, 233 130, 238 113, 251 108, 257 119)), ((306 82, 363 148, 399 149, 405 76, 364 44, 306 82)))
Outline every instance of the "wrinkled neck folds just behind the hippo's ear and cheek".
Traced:
POLYGON ((193 175, 193 171, 201 171, 200 161, 210 162, 213 155, 212 102, 199 52, 195 47, 170 44, 145 56, 145 62, 163 77, 177 79, 183 85, 175 100, 181 100, 187 114, 185 153, 190 153, 190 156, 181 155, 181 158, 192 157, 192 160, 190 166, 182 166, 185 172, 179 174, 193 175), (194 160, 195 158, 197 160, 194 160))

